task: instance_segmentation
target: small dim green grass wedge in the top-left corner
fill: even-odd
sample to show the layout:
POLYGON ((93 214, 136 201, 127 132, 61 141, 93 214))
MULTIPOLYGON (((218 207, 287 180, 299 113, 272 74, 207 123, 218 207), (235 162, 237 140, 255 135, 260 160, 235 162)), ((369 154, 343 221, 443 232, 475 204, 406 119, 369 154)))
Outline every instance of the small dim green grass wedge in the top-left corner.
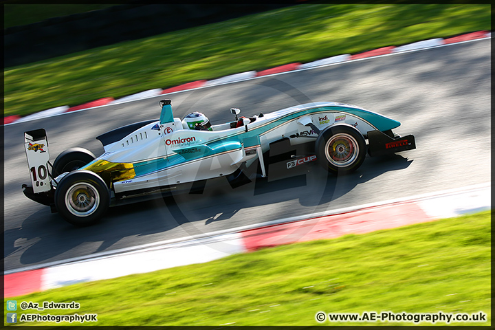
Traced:
POLYGON ((96 4, 15 4, 20 1, 9 1, 3 5, 3 28, 10 28, 17 25, 38 23, 53 17, 62 17, 91 10, 109 8, 113 5, 96 4))

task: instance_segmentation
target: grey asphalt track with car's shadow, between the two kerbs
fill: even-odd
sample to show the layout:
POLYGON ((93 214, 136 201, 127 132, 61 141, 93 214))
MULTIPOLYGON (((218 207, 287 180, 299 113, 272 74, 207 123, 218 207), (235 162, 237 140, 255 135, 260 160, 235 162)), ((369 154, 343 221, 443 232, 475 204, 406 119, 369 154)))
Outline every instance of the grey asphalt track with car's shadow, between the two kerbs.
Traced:
MULTIPOLYGON (((366 58, 157 96, 126 104, 66 113, 5 126, 5 270, 107 252, 166 239, 236 228, 490 181, 490 40, 366 58), (170 98, 176 117, 201 111, 213 124, 296 104, 357 104, 401 122, 417 149, 391 157, 366 157, 353 174, 335 177, 314 164, 298 166, 232 189, 224 178, 202 194, 111 208, 101 223, 76 228, 50 208, 24 197, 29 183, 23 132, 47 130, 52 161, 72 146, 96 155, 94 137, 159 117, 170 98)), ((26 100, 36 102, 36 100, 26 100)))

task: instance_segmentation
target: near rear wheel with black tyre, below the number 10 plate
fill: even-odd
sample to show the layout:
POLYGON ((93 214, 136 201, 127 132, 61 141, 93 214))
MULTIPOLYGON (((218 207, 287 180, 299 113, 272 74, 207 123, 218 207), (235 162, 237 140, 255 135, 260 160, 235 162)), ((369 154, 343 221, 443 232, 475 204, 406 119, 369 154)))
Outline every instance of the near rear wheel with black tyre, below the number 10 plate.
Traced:
POLYGON ((67 222, 85 227, 102 219, 110 205, 107 184, 90 170, 75 170, 58 182, 55 207, 67 222))

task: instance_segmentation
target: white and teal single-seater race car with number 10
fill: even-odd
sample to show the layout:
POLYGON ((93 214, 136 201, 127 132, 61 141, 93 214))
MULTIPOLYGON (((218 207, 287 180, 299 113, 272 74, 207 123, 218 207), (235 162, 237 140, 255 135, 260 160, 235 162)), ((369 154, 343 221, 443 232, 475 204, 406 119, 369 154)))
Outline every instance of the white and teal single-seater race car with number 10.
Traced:
MULTIPOLYGON (((416 148, 413 135, 399 136, 400 122, 351 104, 314 102, 212 125, 206 115, 174 118, 170 100, 159 101, 157 120, 137 122, 96 137, 104 153, 64 151, 50 163, 45 129, 25 132, 31 185, 26 197, 50 206, 69 223, 94 224, 110 206, 162 197, 185 184, 226 177, 233 188, 250 182, 256 162, 267 176, 265 157, 287 156, 287 168, 316 160, 336 175, 349 174, 371 157, 416 148), (313 154, 284 149, 307 146, 313 154)), ((298 148, 298 150, 301 150, 298 148)), ((280 157, 279 157, 280 158, 280 157)))

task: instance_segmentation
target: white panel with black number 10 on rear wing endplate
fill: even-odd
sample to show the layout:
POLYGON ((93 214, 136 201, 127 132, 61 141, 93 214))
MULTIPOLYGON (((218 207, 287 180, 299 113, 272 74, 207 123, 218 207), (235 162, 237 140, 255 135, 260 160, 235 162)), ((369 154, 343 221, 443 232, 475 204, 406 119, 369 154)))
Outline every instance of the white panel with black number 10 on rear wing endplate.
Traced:
POLYGON ((26 142, 24 144, 34 193, 50 190, 47 165, 50 160, 50 154, 47 152, 47 145, 46 140, 26 142))

